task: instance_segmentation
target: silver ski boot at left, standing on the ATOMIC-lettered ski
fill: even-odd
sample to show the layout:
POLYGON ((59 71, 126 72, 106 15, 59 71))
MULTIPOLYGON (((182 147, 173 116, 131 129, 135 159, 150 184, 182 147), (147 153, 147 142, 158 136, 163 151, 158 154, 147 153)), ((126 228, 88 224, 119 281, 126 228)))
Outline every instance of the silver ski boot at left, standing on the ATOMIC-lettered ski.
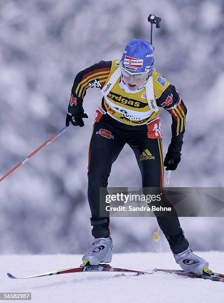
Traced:
POLYGON ((98 265, 100 262, 109 263, 112 260, 112 238, 97 238, 93 248, 82 257, 83 264, 98 265))

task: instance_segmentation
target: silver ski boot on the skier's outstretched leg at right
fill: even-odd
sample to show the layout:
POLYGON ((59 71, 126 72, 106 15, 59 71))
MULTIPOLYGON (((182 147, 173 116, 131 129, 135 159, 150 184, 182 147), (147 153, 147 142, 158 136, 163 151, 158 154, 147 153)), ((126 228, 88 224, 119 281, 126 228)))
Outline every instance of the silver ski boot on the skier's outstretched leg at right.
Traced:
POLYGON ((176 263, 186 272, 193 272, 197 275, 212 274, 212 271, 208 268, 209 262, 192 253, 189 248, 182 253, 173 255, 176 263))

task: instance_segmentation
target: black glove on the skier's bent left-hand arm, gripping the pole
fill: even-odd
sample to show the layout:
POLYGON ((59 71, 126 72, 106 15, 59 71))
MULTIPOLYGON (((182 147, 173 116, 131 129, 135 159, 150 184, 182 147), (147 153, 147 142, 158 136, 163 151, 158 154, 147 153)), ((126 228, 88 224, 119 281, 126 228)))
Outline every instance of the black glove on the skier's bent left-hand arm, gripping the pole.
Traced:
POLYGON ((83 100, 80 98, 74 98, 71 94, 68 111, 66 115, 65 126, 69 126, 71 122, 74 126, 84 126, 83 118, 88 118, 87 114, 84 113, 84 108, 82 106, 83 100))

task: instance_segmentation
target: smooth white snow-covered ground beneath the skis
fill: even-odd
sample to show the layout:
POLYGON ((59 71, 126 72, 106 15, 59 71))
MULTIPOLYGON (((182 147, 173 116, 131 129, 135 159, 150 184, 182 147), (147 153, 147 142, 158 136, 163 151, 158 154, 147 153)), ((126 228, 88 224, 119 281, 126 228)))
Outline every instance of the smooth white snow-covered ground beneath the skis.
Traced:
MULTIPOLYGON (((197 252, 195 252, 197 253, 197 252)), ((210 268, 224 272, 224 252, 199 252, 210 268)), ((130 276, 121 273, 73 273, 59 276, 12 280, 80 264, 81 255, 1 255, 0 292, 31 292, 37 303, 198 303, 224 302, 224 283, 180 277, 169 273, 130 276)), ((119 253, 112 265, 139 270, 179 269, 171 253, 119 253)))

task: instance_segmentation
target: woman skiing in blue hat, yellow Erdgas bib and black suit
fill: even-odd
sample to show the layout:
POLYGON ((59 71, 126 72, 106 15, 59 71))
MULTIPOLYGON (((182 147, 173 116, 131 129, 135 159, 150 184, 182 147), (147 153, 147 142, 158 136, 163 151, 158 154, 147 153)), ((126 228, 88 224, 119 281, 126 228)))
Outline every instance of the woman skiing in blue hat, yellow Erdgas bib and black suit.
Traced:
MULTIPOLYGON (((154 69, 152 45, 132 40, 121 60, 100 61, 75 77, 66 126, 84 126, 83 99, 89 87, 101 89, 103 99, 96 110, 89 148, 88 200, 94 245, 82 260, 97 265, 112 260, 110 217, 100 216, 100 187, 107 187, 112 163, 128 144, 142 176, 142 187, 164 186, 164 166, 175 170, 181 159, 186 106, 175 87, 154 69), (172 138, 163 161, 160 108, 172 116, 172 138)), ((196 274, 209 272, 208 262, 192 253, 177 216, 157 216, 180 267, 196 274)))

